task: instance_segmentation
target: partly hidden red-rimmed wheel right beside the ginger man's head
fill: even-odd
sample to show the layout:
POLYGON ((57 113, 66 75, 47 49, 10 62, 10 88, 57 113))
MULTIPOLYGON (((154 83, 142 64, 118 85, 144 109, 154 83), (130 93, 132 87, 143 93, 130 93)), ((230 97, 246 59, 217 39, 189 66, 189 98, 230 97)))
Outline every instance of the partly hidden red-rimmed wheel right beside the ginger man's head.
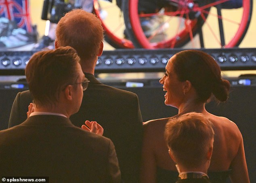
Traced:
POLYGON ((125 24, 122 10, 116 1, 94 0, 94 13, 102 22, 105 40, 115 48, 134 48, 132 41, 124 35, 125 24))

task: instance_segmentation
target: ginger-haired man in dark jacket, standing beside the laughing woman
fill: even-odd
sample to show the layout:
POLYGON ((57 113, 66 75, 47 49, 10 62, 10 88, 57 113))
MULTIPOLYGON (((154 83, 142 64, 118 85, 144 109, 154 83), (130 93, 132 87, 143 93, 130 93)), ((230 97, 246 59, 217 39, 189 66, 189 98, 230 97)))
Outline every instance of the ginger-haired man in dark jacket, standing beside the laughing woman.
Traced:
MULTIPOLYGON (((85 120, 97 121, 104 129, 103 136, 110 138, 115 145, 122 181, 137 182, 142 146, 142 116, 138 96, 107 86, 94 76, 98 56, 103 52, 101 21, 84 10, 68 12, 56 28, 55 48, 60 46, 76 49, 81 58, 82 70, 90 80, 84 91, 82 105, 78 113, 71 115, 71 122, 81 127, 85 120)), ((9 127, 27 118, 27 106, 31 101, 29 91, 17 94, 10 113, 9 127)))

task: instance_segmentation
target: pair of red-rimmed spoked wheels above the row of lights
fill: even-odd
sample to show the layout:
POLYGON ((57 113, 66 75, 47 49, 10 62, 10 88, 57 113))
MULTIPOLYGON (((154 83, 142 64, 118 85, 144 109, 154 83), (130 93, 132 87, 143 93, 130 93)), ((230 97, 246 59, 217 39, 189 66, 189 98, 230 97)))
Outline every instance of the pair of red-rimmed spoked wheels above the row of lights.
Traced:
POLYGON ((94 10, 103 23, 106 40, 116 48, 236 47, 252 16, 252 0, 156 2, 160 1, 162 6, 154 12, 140 11, 143 0, 123 0, 122 10, 115 0, 94 0, 94 10), (145 20, 156 22, 150 34, 145 20))

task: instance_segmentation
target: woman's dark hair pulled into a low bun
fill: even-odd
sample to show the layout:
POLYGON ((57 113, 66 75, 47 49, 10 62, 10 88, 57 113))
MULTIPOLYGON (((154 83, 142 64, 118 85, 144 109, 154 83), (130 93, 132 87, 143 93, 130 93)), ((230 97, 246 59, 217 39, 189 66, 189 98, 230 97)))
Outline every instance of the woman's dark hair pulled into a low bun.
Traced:
POLYGON ((191 82, 199 102, 206 102, 212 94, 221 102, 228 99, 230 83, 221 78, 220 67, 208 53, 199 50, 180 51, 172 63, 178 79, 191 82))

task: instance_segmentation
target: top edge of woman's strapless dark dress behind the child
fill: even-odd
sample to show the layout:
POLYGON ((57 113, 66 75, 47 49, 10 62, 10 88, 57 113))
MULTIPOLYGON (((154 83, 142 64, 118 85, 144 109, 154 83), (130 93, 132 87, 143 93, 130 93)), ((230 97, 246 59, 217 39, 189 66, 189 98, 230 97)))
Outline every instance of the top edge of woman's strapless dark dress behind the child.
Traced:
MULTIPOLYGON (((208 171, 211 183, 226 183, 231 170, 227 171, 208 171)), ((175 183, 178 180, 178 172, 170 171, 157 167, 157 183, 175 183)))

